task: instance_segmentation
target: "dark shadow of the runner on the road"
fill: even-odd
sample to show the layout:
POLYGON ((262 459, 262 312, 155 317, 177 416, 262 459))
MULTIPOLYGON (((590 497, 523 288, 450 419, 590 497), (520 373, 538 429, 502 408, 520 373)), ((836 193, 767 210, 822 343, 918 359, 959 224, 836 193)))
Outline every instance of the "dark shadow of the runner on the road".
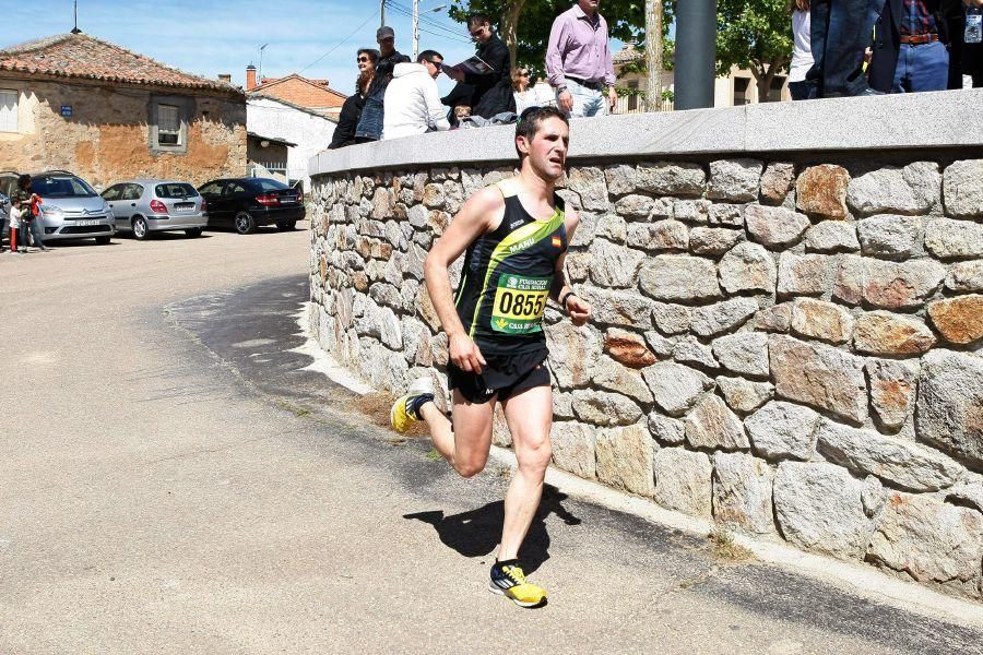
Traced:
MULTIPOLYGON (((546 485, 540 509, 529 526, 529 534, 522 543, 519 558, 526 574, 532 573, 549 559, 549 533, 546 517, 556 514, 567 525, 580 525, 581 521, 562 507, 567 495, 546 485)), ((483 508, 445 516, 442 510, 405 514, 403 519, 415 519, 429 523, 445 546, 453 548, 464 557, 475 558, 492 553, 501 537, 501 522, 505 517, 505 502, 489 502, 483 508)))

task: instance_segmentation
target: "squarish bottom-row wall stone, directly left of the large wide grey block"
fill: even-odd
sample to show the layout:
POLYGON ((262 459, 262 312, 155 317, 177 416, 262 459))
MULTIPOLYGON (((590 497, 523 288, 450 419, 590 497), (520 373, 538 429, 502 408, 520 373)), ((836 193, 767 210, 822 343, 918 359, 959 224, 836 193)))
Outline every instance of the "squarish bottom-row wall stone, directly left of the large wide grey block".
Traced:
POLYGON ((743 453, 713 454, 713 519, 729 527, 773 534, 774 471, 743 453))

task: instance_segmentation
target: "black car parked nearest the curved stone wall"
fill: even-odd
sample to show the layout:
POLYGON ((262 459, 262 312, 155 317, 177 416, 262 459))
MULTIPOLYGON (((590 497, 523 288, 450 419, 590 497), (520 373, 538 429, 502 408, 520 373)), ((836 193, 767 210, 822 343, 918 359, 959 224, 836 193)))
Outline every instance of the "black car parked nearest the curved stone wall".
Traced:
POLYGON ((240 235, 251 234, 264 225, 288 230, 305 216, 304 194, 277 180, 212 180, 198 192, 208 202, 209 228, 232 227, 240 235))

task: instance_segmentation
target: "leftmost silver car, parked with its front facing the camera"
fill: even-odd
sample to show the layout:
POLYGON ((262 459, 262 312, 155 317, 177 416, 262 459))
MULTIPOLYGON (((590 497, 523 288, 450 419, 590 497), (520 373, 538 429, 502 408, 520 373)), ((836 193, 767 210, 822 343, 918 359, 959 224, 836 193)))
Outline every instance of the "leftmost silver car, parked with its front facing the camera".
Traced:
MULTIPOLYGON (((17 174, 0 174, 0 191, 10 195, 17 174)), ((31 190, 42 199, 40 222, 45 242, 60 239, 95 238, 108 243, 116 234, 109 206, 88 183, 67 170, 31 174, 31 190)))

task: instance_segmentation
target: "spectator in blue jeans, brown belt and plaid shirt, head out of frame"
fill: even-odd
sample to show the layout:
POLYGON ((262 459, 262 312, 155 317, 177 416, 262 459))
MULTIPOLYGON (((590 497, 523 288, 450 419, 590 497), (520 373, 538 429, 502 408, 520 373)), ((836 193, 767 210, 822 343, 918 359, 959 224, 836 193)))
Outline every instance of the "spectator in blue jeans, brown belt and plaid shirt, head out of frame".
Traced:
POLYGON ((885 93, 946 90, 945 26, 940 0, 888 0, 875 29, 871 86, 885 93))

